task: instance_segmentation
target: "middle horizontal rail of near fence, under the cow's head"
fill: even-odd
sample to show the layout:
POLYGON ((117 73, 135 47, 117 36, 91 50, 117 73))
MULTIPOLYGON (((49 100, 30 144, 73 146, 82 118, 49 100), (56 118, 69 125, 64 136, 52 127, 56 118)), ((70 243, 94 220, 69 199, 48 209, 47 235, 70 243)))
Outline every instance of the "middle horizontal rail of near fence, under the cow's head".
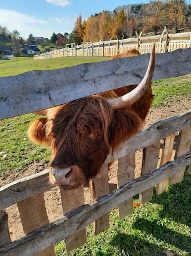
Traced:
MULTIPOLYGON (((105 164, 154 144, 159 139, 189 127, 189 125, 191 125, 191 110, 173 118, 156 122, 134 137, 123 141, 119 150, 113 153, 113 158, 112 155, 107 156, 105 164)), ((53 185, 48 183, 48 170, 2 186, 0 188, 0 210, 50 188, 53 188, 53 185)))

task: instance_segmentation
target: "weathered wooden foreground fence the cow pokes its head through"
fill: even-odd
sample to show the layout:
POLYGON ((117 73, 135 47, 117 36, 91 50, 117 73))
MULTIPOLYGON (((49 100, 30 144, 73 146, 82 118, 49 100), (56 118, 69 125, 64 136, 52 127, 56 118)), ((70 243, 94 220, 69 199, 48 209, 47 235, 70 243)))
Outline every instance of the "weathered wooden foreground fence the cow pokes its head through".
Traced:
MULTIPOLYGON (((153 80, 189 74, 191 49, 179 49, 156 55, 153 80)), ((57 106, 76 98, 97 94, 141 81, 149 55, 116 59, 96 64, 53 71, 30 71, 13 77, 0 78, 0 119, 57 106), (95 72, 96 70, 96 72, 95 72)), ((140 203, 152 199, 153 186, 157 193, 170 184, 181 182, 186 165, 191 162, 191 112, 186 112, 151 125, 124 141, 118 151, 107 157, 100 173, 90 182, 92 203, 84 205, 84 188, 74 191, 61 189, 63 217, 48 223, 44 191, 52 188, 44 179, 48 170, 16 180, 0 188, 0 255, 54 255, 54 243, 65 239, 67 251, 86 241, 85 228, 94 222, 94 233, 109 227, 109 211, 118 205, 119 218, 133 211, 133 196, 140 193, 140 203), (175 135, 178 144, 175 159, 172 149, 175 135), (164 140, 161 162, 159 151, 164 140), (135 152, 143 149, 141 176, 134 179, 135 152), (108 164, 119 159, 118 189, 108 193, 108 164), (24 234, 10 242, 7 225, 8 206, 17 203, 24 234)), ((16 227, 17 228, 17 227, 16 227)))

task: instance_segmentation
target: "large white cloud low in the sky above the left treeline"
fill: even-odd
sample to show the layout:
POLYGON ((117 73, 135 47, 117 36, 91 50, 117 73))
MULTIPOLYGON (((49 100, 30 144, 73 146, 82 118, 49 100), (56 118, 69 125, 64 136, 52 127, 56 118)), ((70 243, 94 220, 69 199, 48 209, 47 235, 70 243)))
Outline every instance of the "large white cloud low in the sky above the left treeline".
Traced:
POLYGON ((3 10, 0 8, 0 25, 6 26, 8 31, 14 29, 19 31, 20 36, 27 39, 29 34, 34 37, 50 38, 55 33, 71 32, 73 29, 74 19, 64 19, 58 17, 50 17, 45 19, 37 19, 36 16, 29 16, 23 13, 18 13, 14 10, 3 10))

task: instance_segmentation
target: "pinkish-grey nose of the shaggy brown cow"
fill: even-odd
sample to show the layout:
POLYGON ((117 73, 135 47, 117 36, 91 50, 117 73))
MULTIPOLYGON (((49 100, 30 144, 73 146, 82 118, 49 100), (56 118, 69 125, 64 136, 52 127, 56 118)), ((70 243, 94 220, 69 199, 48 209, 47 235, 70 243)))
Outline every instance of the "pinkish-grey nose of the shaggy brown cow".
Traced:
POLYGON ((56 169, 52 168, 52 173, 57 185, 69 185, 72 177, 72 168, 56 169))

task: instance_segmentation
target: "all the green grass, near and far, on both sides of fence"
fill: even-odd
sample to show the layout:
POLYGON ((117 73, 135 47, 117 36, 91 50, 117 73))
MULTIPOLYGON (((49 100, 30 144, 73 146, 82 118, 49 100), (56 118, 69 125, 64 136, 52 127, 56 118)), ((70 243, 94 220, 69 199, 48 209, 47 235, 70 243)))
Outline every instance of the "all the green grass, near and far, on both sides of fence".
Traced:
MULTIPOLYGON (((36 60, 19 58, 19 61, 0 61, 0 77, 13 76, 30 70, 49 70, 69 67, 84 62, 97 62, 104 58, 55 58, 36 60)), ((190 80, 186 76, 153 83, 153 107, 167 104, 171 95, 189 95, 190 80)), ((35 146, 26 135, 27 127, 36 116, 29 114, 0 121, 0 176, 19 173, 33 161, 47 162, 50 150, 35 146), (5 157, 2 157, 5 156, 5 157)), ((135 202, 138 197, 135 197, 135 202)), ((163 250, 175 255, 191 255, 191 179, 168 187, 160 196, 134 209, 125 219, 118 220, 114 209, 110 212, 110 228, 98 236, 88 227, 88 242, 69 254, 62 242, 55 246, 57 255, 69 256, 162 256, 163 250)))

